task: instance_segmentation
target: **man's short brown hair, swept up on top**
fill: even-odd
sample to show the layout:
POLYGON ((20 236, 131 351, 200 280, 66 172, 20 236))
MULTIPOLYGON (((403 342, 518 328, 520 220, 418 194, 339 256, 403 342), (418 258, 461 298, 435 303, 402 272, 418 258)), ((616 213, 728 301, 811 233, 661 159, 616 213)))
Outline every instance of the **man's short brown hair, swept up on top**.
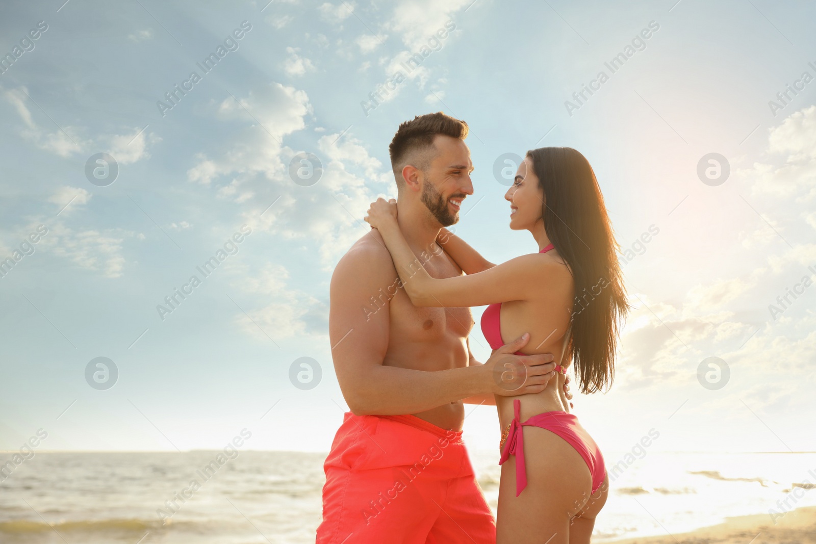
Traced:
POLYGON ((437 112, 418 115, 412 121, 402 123, 397 129, 397 134, 388 146, 397 188, 402 187, 402 169, 406 165, 410 164, 419 170, 428 168, 435 157, 433 139, 437 134, 465 139, 468 137, 468 123, 437 112))

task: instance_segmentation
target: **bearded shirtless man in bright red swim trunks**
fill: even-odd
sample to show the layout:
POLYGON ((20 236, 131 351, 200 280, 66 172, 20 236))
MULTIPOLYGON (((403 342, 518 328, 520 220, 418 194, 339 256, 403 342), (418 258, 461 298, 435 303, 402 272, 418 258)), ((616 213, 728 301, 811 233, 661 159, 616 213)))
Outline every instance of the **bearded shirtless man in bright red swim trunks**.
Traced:
MULTIPOLYGON (((438 278, 462 274, 436 240, 473 193, 467 135, 467 123, 429 113, 402 123, 389 146, 401 231, 438 278)), ((468 343, 469 308, 414 307, 400 287, 376 230, 331 278, 332 357, 351 411, 324 464, 317 544, 493 544, 495 522, 461 438, 463 402, 541 391, 552 355, 512 355, 525 335, 481 364, 468 343)))

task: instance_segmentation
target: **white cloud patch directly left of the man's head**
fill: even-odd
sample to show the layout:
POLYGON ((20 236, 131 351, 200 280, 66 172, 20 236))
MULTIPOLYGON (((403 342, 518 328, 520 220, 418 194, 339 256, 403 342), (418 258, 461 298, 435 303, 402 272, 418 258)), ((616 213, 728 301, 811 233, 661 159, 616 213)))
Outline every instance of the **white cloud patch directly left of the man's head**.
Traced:
MULTIPOLYGON (((323 266, 329 268, 369 230, 361 218, 376 194, 366 188, 366 182, 388 182, 390 168, 371 157, 351 131, 342 137, 338 132, 324 133, 317 149, 303 150, 322 161, 321 178, 313 187, 301 187, 289 174, 290 161, 301 150, 283 141, 305 127, 305 117, 312 112, 307 95, 273 83, 239 100, 273 134, 257 126, 234 100, 220 104, 220 117, 240 118, 254 126, 231 136, 231 144, 215 157, 199 153, 188 179, 211 184, 218 197, 242 203, 242 223, 259 232, 317 245, 323 266)), ((385 188, 396 192, 392 185, 385 188)))

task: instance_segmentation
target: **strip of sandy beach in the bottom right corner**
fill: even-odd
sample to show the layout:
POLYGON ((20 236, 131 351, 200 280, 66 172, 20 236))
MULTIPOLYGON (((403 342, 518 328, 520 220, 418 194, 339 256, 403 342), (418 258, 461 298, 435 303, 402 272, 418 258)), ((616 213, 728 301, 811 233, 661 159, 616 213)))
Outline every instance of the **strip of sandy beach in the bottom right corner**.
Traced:
POLYGON ((767 514, 728 518, 691 533, 616 540, 614 544, 809 544, 816 542, 816 507, 799 508, 771 521, 767 514))

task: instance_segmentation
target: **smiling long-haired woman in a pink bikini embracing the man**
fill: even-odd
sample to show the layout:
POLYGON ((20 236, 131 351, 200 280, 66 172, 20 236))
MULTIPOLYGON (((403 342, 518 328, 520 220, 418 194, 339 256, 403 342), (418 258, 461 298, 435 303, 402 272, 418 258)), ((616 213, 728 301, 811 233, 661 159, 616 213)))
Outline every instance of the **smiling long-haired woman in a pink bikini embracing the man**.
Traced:
POLYGON ((435 279, 416 266, 394 201, 378 199, 366 221, 382 234, 415 306, 490 304, 481 328, 491 348, 529 331, 522 353, 557 357, 557 379, 539 393, 495 396, 502 429, 496 542, 589 542, 608 478, 563 385, 570 365, 583 393, 611 385, 618 321, 628 312, 617 243, 592 166, 572 148, 527 152, 504 198, 510 228, 530 231, 539 252, 494 265, 443 229, 437 242, 465 276, 435 279))

